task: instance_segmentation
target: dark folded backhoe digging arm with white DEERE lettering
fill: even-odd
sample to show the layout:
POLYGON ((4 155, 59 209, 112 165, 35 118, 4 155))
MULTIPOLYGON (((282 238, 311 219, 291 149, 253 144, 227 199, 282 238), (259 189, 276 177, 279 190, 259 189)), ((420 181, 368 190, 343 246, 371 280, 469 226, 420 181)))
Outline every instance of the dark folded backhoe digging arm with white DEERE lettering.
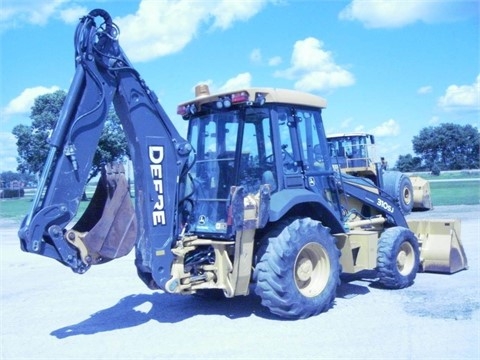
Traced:
MULTIPOLYGON (((178 179, 191 146, 178 134, 154 92, 131 66, 117 37, 118 29, 104 10, 91 11, 77 27, 75 76, 51 136, 39 187, 19 237, 24 251, 54 258, 78 273, 89 268, 92 262, 89 252, 94 252, 92 248, 104 241, 100 237, 111 233, 109 229, 96 231, 96 238, 83 241, 85 233, 102 221, 92 217, 112 217, 130 201, 128 198, 125 203, 117 203, 111 211, 90 211, 83 216, 81 225, 73 227, 73 232, 67 229, 77 213, 100 134, 113 104, 134 164, 136 265, 140 277, 150 287, 162 287, 170 276, 168 270, 173 259, 170 248, 176 239, 178 179), (98 17, 104 23, 97 27, 98 17)), ((117 180, 110 181, 110 185, 112 182, 117 180)), ((112 186, 103 193, 111 190, 112 186)), ((103 204, 102 200, 100 207, 103 204)), ((103 221, 111 225, 124 219, 103 221)), ((126 226, 122 231, 127 232, 126 226)), ((120 247, 123 235, 109 241, 120 247)), ((115 258, 117 251, 109 253, 115 258)))

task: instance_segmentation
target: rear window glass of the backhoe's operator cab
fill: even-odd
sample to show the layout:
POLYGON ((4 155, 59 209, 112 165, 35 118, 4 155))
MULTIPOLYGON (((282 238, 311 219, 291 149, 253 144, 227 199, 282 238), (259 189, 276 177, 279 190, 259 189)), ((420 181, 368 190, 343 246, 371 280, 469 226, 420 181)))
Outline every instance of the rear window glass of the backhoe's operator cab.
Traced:
POLYGON ((256 193, 273 181, 274 158, 268 108, 228 109, 190 120, 196 160, 189 172, 189 230, 228 238, 232 186, 256 193))

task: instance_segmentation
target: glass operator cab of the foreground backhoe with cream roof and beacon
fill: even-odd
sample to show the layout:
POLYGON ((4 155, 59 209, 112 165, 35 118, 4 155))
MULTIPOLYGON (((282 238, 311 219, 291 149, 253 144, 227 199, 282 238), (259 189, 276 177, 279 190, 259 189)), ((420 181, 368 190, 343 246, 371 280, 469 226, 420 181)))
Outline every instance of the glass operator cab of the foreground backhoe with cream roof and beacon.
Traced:
POLYGON ((333 171, 321 109, 324 99, 297 91, 253 88, 210 95, 196 88, 196 99, 177 108, 189 121, 188 141, 195 161, 185 178, 190 204, 188 230, 231 239, 232 187, 255 194, 268 184, 284 189, 325 189, 333 171), (322 183, 323 182, 323 183, 322 183))

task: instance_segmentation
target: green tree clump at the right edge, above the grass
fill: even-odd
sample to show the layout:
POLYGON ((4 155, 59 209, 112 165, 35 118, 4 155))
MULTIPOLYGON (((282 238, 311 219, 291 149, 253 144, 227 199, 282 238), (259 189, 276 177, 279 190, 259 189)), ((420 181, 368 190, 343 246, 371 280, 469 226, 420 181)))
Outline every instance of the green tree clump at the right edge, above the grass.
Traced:
POLYGON ((434 166, 439 170, 479 168, 480 134, 472 125, 445 123, 423 128, 412 144, 429 170, 434 166))

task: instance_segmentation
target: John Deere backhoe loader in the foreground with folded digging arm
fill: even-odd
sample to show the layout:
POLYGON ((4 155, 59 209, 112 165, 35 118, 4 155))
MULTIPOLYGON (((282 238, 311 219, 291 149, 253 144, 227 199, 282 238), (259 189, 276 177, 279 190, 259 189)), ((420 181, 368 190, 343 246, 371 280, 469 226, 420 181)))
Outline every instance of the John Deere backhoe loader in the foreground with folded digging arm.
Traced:
POLYGON ((324 99, 272 88, 213 95, 199 86, 178 107, 184 139, 117 35, 104 10, 80 20, 75 76, 19 230, 24 251, 81 274, 135 247, 150 289, 233 297, 252 288, 271 312, 293 319, 329 309, 342 272, 375 269, 380 284, 397 289, 419 270, 467 266, 458 221, 409 226, 382 189, 334 171, 324 99), (135 208, 123 167, 106 166, 70 225, 112 103, 134 164, 135 208))

